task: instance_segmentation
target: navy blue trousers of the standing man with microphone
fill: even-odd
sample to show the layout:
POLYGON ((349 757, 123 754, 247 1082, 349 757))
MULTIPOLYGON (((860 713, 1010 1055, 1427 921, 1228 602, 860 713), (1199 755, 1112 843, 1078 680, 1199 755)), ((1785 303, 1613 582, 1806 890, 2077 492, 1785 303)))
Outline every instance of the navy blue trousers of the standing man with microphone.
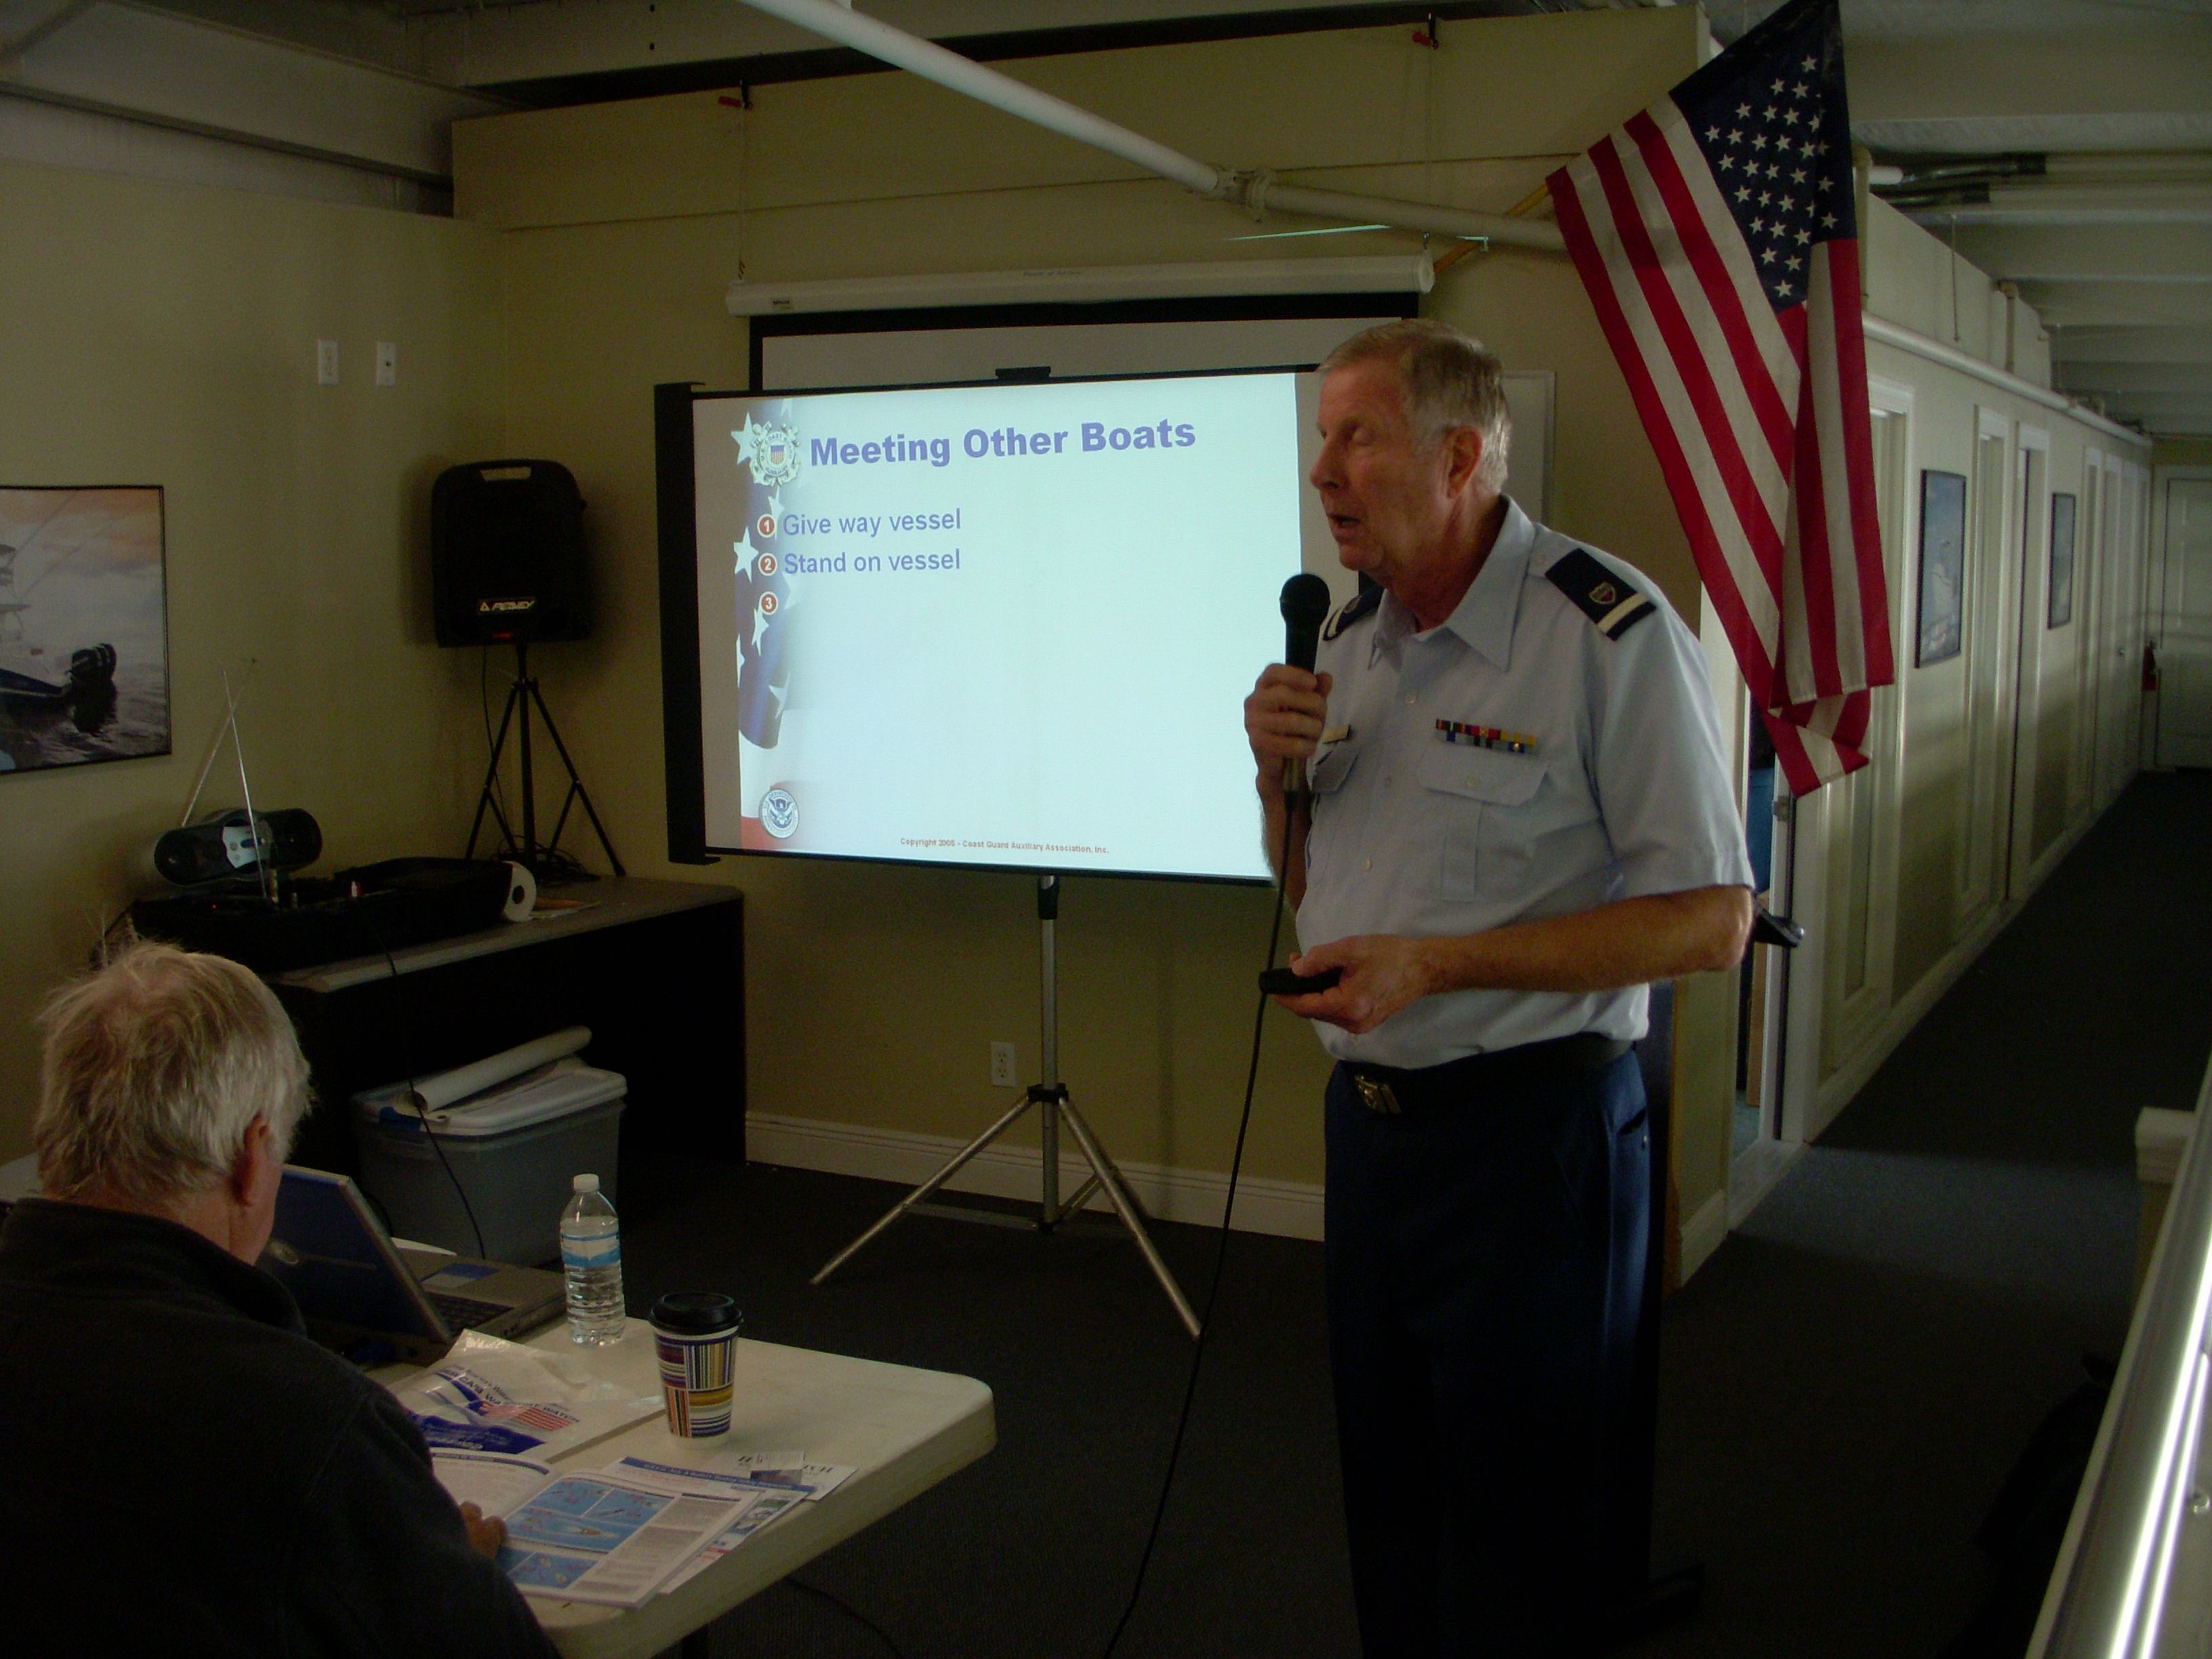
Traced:
POLYGON ((1327 1102, 1327 1290, 1367 1659, 1586 1652, 1644 1296, 1632 1053, 1385 1117, 1327 1102))

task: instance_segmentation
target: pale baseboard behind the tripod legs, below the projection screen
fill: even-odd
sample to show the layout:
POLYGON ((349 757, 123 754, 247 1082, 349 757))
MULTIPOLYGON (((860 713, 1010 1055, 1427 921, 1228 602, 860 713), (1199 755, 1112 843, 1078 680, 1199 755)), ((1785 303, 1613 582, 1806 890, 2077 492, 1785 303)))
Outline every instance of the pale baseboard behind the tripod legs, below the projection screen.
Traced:
MULTIPOLYGON (((978 1126, 980 1128, 980 1126, 978 1126)), ((1066 1139, 1066 1137, 1062 1137, 1066 1139)), ((860 1175, 872 1181, 920 1186, 967 1141, 947 1135, 914 1135, 898 1128, 832 1124, 818 1117, 745 1117, 745 1157, 827 1175, 860 1175)), ((1042 1157, 1033 1146, 987 1146, 945 1183, 949 1192, 984 1192, 998 1199, 1037 1199, 1042 1157)), ((1217 1170, 1177 1170, 1161 1164, 1121 1164, 1121 1179, 1148 1214, 1161 1221, 1221 1225, 1230 1179, 1217 1170)), ((1060 1190, 1075 1192, 1091 1175, 1082 1155, 1060 1159, 1060 1190)), ((1088 1208, 1106 1210, 1104 1194, 1088 1208)), ((1274 1181, 1245 1175, 1237 1181, 1237 1230, 1272 1232, 1281 1239, 1321 1237, 1321 1188, 1307 1181, 1274 1181)))

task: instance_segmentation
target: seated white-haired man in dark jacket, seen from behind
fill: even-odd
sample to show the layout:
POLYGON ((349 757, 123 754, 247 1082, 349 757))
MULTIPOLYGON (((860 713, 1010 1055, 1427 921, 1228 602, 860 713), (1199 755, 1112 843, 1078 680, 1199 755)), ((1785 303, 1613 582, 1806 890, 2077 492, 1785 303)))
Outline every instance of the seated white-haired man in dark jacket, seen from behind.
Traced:
POLYGON ((46 1197, 0 1228, 7 1648, 551 1655, 500 1524, 254 1267, 307 1110, 268 987, 135 945, 42 1024, 46 1197))

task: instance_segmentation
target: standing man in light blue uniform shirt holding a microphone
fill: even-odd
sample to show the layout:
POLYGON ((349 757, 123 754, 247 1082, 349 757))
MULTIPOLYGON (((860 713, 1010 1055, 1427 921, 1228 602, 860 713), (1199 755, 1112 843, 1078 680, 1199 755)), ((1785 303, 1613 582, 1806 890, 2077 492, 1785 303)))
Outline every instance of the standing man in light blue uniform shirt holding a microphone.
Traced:
POLYGON ((1648 984, 1734 967, 1750 865, 1705 659, 1648 577, 1500 493, 1498 358, 1433 321, 1323 365, 1347 568, 1245 701, 1338 1060, 1327 1279, 1367 1659, 1582 1652, 1644 1283, 1648 984), (1285 761, 1307 787, 1285 792, 1285 761))

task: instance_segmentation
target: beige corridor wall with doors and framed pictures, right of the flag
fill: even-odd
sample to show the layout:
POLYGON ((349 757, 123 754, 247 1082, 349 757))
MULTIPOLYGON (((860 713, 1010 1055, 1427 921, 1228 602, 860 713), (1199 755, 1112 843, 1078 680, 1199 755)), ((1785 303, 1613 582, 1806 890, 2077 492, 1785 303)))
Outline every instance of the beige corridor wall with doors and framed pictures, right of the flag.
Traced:
MULTIPOLYGON (((2042 341, 2031 310, 2008 303, 1971 265, 1953 268, 1942 241, 1880 204, 1869 212, 1867 263, 1869 312, 1938 345, 2002 367, 2006 327, 2015 330, 2015 358, 2020 341, 2042 341), (1955 336, 1953 292, 1960 296, 1955 336)), ((1876 752, 1891 743, 1896 759, 1887 763, 1889 776, 1849 785, 1847 810, 1814 796, 1798 814, 1798 865, 1823 876, 1796 905, 1798 920, 1816 933, 1816 951, 1807 958, 1820 980, 1803 1002, 1792 993, 1801 1022, 1809 1022, 1792 1042, 1798 1053, 1818 1053, 1818 1077, 1809 1079, 1816 1099, 1801 1115, 1805 1133, 1818 1133, 1843 1108, 2135 768, 2132 675, 2097 684, 2095 670, 2135 626, 2126 602, 2130 591, 2141 591, 2146 526, 2139 513, 2121 513, 2108 524, 2099 515, 2093 524, 2090 511, 2106 498, 2141 504, 2150 447, 2053 409, 2017 385, 1991 383, 1900 345, 1869 341, 1867 369, 1878 407, 1885 400, 1905 405, 1893 500, 1885 500, 1898 686, 1876 692, 1876 752), (1978 467, 1984 431, 2002 442, 1995 473, 1978 467), (2033 507, 2024 507, 2022 449, 2037 436, 2048 447, 2033 507), (2099 458, 2095 495, 2090 456, 2099 458), (1931 469, 1969 480, 1966 648, 1918 666, 1920 478, 1931 469), (2073 619, 2062 628, 2046 626, 2048 500, 2055 491, 2073 493, 2079 507, 2073 619), (1978 551, 1984 507, 1995 507, 2002 522, 1993 526, 1995 542, 1978 551), (2026 551, 2024 513, 2033 515, 2026 551), (1993 706, 1975 734, 1969 692, 1980 650, 1997 653, 1997 664, 1986 681, 1993 706), (2108 717, 2101 757, 2099 714, 2108 717), (2115 734, 2124 737, 2115 741, 2115 734), (1993 781, 1980 821, 1978 765, 1993 781), (1854 838, 1858 810, 1871 810, 1874 818, 1869 832, 1854 838), (1993 865, 1989 885, 1980 894, 1962 891, 1971 858, 1982 849, 1993 865), (1843 982, 1836 953, 1818 953, 1836 940, 1854 885, 1871 916, 1871 958, 1865 987, 1856 991, 1843 982), (1807 1035, 1818 1042, 1805 1044, 1807 1035)), ((2042 380, 2039 374, 2022 378, 2042 380)))

